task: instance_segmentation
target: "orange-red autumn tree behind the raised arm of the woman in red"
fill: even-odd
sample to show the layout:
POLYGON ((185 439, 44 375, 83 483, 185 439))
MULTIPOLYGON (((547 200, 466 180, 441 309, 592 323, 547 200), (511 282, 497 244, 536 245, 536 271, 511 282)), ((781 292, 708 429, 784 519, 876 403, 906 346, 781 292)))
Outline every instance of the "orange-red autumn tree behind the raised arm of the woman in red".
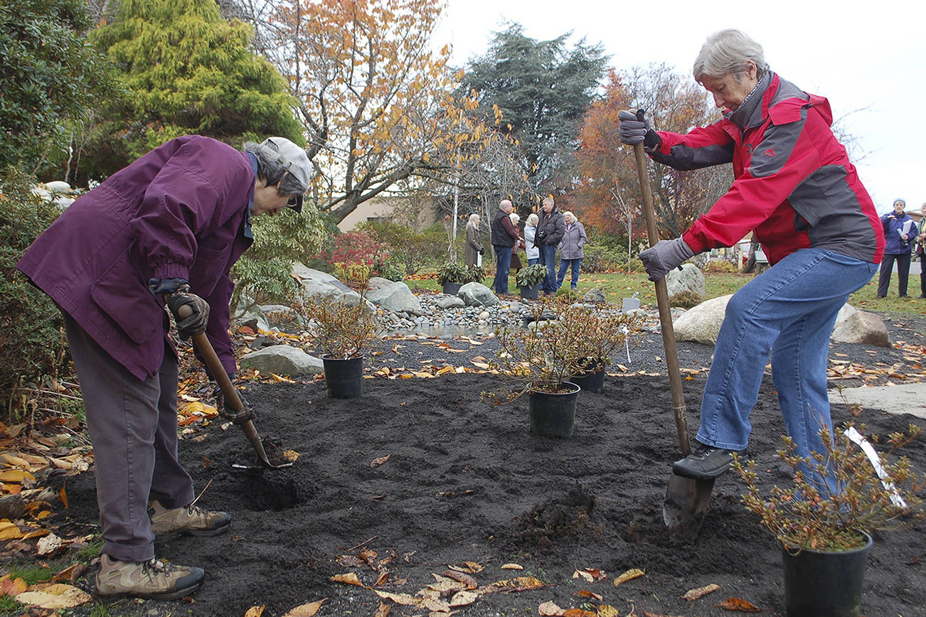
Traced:
MULTIPOLYGON (((608 71, 604 96, 588 108, 579 132, 581 184, 573 204, 585 221, 607 231, 644 229, 633 150, 618 140, 618 112, 638 108, 657 130, 682 133, 719 117, 691 77, 665 65, 608 71)), ((732 181, 729 166, 677 171, 651 163, 649 176, 658 227, 666 238, 681 235, 732 181)))

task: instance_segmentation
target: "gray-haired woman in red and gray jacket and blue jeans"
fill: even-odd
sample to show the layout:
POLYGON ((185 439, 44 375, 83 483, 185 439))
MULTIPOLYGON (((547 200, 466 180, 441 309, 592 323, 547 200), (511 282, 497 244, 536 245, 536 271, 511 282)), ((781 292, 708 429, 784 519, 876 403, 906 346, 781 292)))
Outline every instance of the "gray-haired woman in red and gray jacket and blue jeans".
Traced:
MULTIPOLYGON (((884 251, 881 221, 870 196, 832 134, 825 98, 807 94, 770 70, 761 45, 741 31, 707 39, 694 79, 723 117, 682 135, 656 131, 648 120, 619 114, 619 139, 644 143, 657 162, 677 169, 732 164, 730 190, 682 237, 640 253, 650 280, 712 248, 732 246, 752 231, 769 270, 727 305, 701 404, 692 454, 677 475, 711 478, 732 452, 745 450, 749 413, 765 366, 797 452, 823 451, 830 426, 827 350, 836 314, 877 270, 884 251)), ((832 478, 827 478, 835 488, 832 478)))

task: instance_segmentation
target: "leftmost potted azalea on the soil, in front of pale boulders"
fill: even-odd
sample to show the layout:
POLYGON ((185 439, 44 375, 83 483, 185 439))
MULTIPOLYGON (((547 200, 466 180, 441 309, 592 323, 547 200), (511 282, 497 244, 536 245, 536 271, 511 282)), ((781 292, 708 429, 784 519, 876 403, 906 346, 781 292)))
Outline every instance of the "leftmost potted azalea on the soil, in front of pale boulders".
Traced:
POLYGON ((322 296, 298 308, 309 324, 306 336, 322 352, 325 383, 332 399, 355 399, 363 393, 364 352, 382 331, 366 299, 369 270, 360 278, 357 296, 322 296))

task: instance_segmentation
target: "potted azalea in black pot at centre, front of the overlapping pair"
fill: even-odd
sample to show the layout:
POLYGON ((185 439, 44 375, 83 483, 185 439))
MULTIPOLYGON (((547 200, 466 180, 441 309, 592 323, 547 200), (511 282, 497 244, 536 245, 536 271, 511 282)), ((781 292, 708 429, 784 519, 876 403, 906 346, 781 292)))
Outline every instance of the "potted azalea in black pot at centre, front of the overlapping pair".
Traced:
POLYGON ((532 305, 532 321, 523 327, 496 331, 499 350, 490 364, 506 385, 483 398, 494 404, 528 397, 531 434, 567 438, 575 426, 580 388, 569 381, 582 357, 579 314, 564 302, 549 300, 532 305))

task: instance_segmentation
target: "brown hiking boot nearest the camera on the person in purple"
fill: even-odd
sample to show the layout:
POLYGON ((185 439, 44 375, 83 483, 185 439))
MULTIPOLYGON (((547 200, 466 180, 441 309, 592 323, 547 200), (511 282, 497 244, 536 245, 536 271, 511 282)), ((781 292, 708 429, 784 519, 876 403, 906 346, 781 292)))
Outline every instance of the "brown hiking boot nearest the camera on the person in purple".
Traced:
POLYGON ((135 563, 117 561, 106 553, 100 556, 96 574, 99 596, 177 599, 189 596, 203 583, 202 568, 186 567, 153 559, 135 563))

